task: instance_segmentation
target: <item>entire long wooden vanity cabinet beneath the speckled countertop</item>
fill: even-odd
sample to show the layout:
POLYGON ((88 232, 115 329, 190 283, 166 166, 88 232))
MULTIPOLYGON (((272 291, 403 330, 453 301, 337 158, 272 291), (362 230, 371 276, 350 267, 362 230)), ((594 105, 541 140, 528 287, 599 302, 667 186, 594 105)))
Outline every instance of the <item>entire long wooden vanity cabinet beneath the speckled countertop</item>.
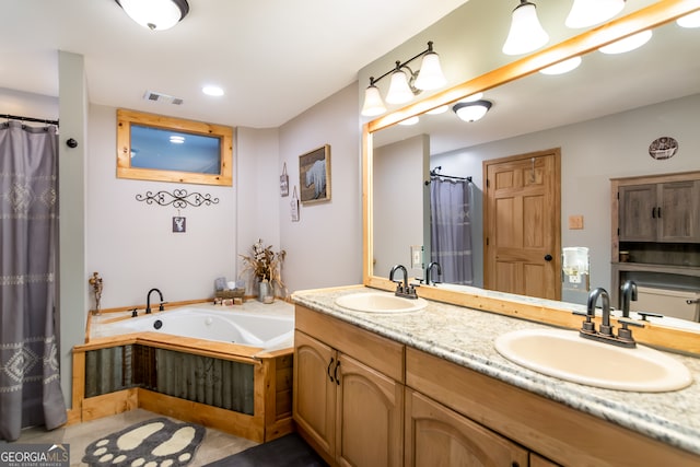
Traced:
POLYGON ((294 420, 331 466, 699 465, 692 453, 302 305, 295 328, 294 420))

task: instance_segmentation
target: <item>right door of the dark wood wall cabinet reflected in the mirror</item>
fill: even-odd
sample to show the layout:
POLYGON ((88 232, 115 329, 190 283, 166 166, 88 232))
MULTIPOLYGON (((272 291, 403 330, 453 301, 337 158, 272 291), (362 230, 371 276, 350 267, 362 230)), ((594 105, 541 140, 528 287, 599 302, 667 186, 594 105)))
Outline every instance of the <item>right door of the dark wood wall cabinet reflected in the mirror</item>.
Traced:
POLYGON ((658 187, 658 240, 700 242, 700 182, 669 182, 658 187))

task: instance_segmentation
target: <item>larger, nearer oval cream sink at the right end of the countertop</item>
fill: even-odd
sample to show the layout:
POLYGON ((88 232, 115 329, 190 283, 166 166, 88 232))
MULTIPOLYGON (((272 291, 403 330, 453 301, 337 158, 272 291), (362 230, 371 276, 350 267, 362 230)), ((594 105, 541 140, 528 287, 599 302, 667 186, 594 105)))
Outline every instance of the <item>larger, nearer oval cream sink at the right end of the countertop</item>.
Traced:
POLYGON ((516 330, 498 337, 494 345, 514 363, 588 386, 662 393, 692 383, 688 369, 665 353, 639 345, 626 349, 584 339, 573 330, 516 330))

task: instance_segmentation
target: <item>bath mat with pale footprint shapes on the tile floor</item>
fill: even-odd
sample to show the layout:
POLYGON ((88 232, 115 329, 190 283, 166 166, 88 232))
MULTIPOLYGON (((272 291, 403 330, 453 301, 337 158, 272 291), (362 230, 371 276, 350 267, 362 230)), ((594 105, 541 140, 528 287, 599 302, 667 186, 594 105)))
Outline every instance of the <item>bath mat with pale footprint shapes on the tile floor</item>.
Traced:
POLYGON ((180 467, 195 457, 206 429, 156 418, 102 436, 85 448, 90 467, 180 467))

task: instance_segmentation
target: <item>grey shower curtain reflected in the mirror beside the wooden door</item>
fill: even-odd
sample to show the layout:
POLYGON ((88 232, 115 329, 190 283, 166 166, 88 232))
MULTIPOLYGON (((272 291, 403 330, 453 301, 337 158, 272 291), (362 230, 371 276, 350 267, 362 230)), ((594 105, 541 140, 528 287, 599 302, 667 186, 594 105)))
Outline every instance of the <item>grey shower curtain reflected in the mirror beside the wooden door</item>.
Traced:
POLYGON ((470 285, 471 184, 467 180, 430 178, 431 255, 442 268, 442 282, 470 285))

